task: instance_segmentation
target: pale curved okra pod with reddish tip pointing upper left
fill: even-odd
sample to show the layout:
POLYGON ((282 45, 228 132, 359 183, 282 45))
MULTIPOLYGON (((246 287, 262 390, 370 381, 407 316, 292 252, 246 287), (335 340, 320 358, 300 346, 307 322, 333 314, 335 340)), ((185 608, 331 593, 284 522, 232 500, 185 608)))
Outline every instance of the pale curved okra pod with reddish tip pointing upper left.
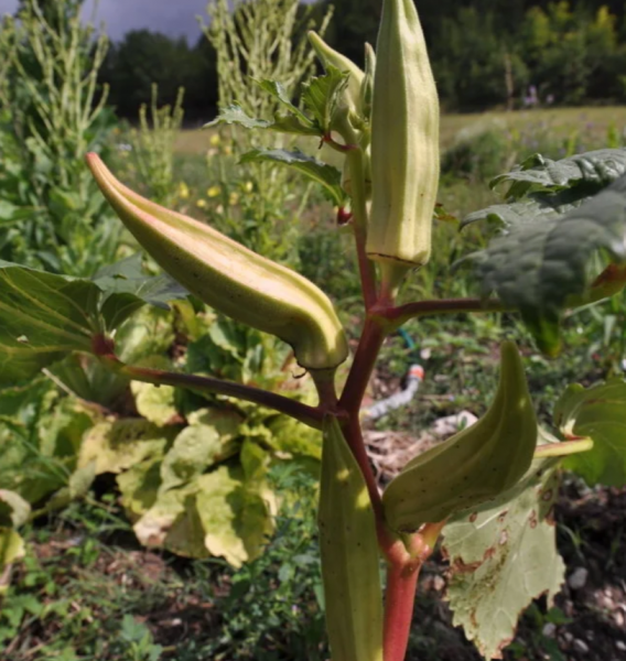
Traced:
POLYGON ((97 154, 88 154, 87 164, 139 243, 201 301, 289 343, 306 369, 332 369, 347 358, 333 304, 312 282, 203 223, 141 197, 116 180, 97 154))

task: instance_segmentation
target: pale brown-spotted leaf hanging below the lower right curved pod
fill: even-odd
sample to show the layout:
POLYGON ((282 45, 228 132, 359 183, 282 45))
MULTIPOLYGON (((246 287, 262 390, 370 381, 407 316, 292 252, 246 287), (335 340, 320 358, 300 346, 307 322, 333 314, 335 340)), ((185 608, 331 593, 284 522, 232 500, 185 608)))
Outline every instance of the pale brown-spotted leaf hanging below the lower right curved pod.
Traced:
POLYGON ((563 583, 552 518, 557 464, 536 459, 516 487, 443 531, 453 624, 486 659, 501 659, 521 613, 542 594, 550 603, 563 583))

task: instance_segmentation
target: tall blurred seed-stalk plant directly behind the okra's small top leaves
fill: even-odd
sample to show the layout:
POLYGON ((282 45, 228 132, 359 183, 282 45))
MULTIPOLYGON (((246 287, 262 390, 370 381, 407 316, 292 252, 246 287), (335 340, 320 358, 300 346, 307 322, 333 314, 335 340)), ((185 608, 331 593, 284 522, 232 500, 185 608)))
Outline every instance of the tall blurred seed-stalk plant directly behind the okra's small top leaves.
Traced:
MULTIPOLYGON (((234 6, 227 0, 211 0, 211 24, 203 28, 217 53, 222 108, 236 101, 253 117, 273 118, 281 101, 262 89, 263 80, 278 80, 287 97, 295 96, 301 80, 314 66, 314 53, 305 39, 305 29, 314 26, 312 11, 309 7, 301 15, 299 0, 237 0, 234 6)), ((321 34, 331 17, 332 9, 322 19, 321 34)), ((251 149, 274 144, 262 131, 236 129, 222 131, 222 143, 229 152, 223 155, 233 163, 251 149)), ((292 144, 292 137, 282 137, 279 147, 292 144)), ((212 221, 252 250, 298 264, 299 216, 309 189, 295 198, 288 185, 290 173, 271 163, 249 163, 238 169, 236 176, 223 159, 217 173, 213 163, 215 160, 209 159, 209 181, 220 186, 222 212, 212 221), (245 186, 244 195, 240 184, 245 186), (238 204, 233 204, 235 196, 238 204), (238 234, 239 228, 245 228, 247 236, 238 234)))

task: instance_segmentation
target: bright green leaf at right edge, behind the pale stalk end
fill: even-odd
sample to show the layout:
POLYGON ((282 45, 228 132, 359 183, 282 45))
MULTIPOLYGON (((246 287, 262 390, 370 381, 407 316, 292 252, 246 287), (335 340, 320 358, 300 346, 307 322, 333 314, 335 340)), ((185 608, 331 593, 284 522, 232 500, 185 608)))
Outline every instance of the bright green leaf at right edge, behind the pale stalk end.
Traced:
POLYGON ((590 485, 626 485, 626 381, 615 378, 591 388, 570 386, 554 408, 554 423, 568 438, 591 437, 593 449, 563 464, 590 485))

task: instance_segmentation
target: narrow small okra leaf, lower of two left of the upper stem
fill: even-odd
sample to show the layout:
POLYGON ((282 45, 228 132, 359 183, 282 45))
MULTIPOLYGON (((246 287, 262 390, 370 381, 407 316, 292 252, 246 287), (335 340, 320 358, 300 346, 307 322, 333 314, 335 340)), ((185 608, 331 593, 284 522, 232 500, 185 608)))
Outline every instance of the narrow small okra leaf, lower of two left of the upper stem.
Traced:
POLYGON ((255 149, 241 156, 241 163, 269 161, 278 165, 292 167, 310 180, 322 185, 326 197, 337 206, 345 206, 346 194, 342 188, 342 173, 333 165, 317 161, 300 150, 287 151, 284 149, 255 149))

